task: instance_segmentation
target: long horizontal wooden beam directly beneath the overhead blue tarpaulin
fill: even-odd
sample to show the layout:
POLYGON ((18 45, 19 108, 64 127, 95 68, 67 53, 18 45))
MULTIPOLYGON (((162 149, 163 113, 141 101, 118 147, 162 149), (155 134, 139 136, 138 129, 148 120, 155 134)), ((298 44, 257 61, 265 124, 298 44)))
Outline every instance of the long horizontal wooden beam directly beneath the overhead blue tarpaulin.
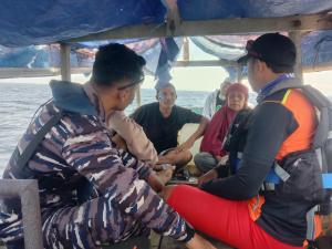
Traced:
MULTIPOLYGON (((173 27, 174 28, 174 27, 173 27)), ((181 21, 175 29, 167 23, 139 24, 70 39, 64 42, 82 42, 112 39, 195 37, 217 34, 247 34, 273 31, 312 31, 332 29, 332 14, 301 14, 280 18, 234 18, 207 21, 181 21), (173 29, 172 28, 172 29, 173 29)))

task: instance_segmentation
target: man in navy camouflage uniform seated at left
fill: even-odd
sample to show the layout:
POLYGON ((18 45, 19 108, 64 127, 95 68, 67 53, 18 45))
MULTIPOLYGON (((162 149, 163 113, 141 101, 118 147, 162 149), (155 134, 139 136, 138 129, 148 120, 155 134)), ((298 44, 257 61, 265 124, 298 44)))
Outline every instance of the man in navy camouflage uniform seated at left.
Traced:
MULTIPOLYGON (((53 98, 19 142, 3 178, 38 180, 45 248, 101 249, 149 229, 188 248, 212 248, 155 193, 163 186, 151 167, 111 141, 105 121, 133 101, 144 64, 125 45, 101 46, 91 81, 51 82, 53 98), (42 141, 34 146, 38 137, 42 141), (83 189, 90 189, 89 201, 80 198, 83 189)), ((22 248, 19 203, 7 199, 6 209, 13 216, 2 224, 1 239, 22 248)))

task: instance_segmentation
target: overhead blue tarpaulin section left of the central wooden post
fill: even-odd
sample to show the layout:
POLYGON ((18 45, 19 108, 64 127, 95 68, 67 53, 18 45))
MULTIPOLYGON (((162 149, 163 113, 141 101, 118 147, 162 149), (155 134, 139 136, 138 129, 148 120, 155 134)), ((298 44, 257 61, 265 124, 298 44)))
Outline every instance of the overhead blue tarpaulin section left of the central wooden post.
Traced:
POLYGON ((118 27, 162 23, 156 0, 1 0, 0 44, 45 44, 118 27))

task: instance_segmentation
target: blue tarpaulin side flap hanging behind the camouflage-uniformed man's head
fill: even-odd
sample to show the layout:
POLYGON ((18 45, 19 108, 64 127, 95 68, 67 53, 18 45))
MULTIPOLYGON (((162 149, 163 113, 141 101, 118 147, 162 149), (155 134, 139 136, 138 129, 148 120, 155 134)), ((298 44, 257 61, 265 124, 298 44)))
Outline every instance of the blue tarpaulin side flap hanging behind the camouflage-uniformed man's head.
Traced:
MULTIPOLYGON (((71 66, 91 68, 97 51, 96 45, 108 42, 73 44, 71 66)), ((180 51, 183 38, 149 39, 125 44, 145 58, 148 74, 155 75, 158 81, 167 82, 172 79, 169 71, 180 51)), ((60 68, 60 45, 0 46, 0 68, 60 68)))

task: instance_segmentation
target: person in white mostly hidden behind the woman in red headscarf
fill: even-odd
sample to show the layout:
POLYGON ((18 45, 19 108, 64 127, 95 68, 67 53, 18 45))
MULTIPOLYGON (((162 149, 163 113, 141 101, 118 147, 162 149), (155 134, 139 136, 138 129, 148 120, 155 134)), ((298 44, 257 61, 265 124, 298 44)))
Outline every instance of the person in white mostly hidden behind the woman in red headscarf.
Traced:
POLYGON ((220 87, 211 92, 205 100, 203 115, 209 120, 212 118, 216 112, 218 112, 221 106, 226 104, 226 91, 231 84, 229 77, 220 84, 220 87))

